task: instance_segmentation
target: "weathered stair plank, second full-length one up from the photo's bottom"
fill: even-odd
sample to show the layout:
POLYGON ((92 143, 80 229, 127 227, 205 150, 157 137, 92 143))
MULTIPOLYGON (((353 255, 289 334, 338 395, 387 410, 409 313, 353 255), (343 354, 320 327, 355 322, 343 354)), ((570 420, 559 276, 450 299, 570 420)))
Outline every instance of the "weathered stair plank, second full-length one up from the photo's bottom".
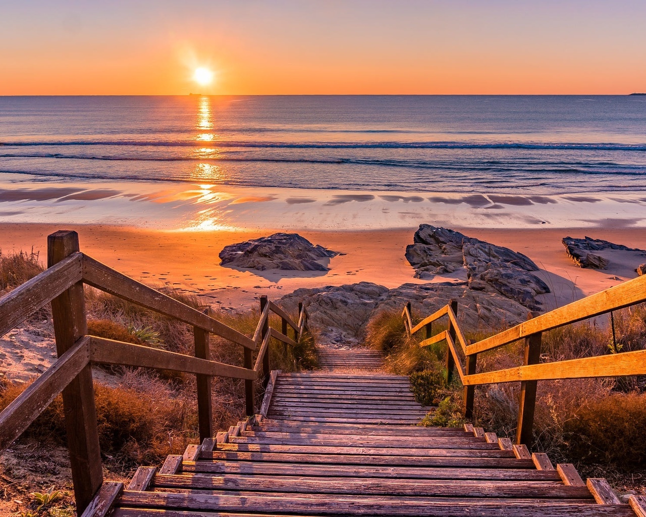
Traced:
POLYGON ((290 492, 298 494, 360 494, 464 498, 569 498, 589 499, 586 487, 568 487, 560 481, 512 480, 389 480, 384 478, 309 478, 229 474, 160 474, 157 487, 217 491, 290 492))

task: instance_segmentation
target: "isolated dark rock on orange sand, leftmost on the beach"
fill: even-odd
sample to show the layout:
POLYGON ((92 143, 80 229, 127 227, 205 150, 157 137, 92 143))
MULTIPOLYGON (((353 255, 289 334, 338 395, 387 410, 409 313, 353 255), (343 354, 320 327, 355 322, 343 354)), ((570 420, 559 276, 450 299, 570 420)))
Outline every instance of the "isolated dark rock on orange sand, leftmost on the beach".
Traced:
POLYGON ((225 246, 220 251, 222 266, 236 268, 284 269, 287 271, 329 271, 318 262, 339 255, 323 246, 314 246, 298 233, 275 233, 238 244, 225 246))

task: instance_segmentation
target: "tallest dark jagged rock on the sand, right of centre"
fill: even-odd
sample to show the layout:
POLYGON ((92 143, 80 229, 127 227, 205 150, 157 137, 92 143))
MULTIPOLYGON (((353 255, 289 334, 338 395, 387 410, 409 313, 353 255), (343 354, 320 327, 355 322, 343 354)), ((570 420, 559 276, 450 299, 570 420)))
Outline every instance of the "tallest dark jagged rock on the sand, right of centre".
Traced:
POLYGON ((406 259, 415 268, 415 277, 435 275, 466 268, 472 290, 499 293, 525 307, 540 311, 536 296, 550 288, 530 271, 538 271, 531 259, 504 246, 466 237, 459 231, 421 224, 406 246, 406 259))

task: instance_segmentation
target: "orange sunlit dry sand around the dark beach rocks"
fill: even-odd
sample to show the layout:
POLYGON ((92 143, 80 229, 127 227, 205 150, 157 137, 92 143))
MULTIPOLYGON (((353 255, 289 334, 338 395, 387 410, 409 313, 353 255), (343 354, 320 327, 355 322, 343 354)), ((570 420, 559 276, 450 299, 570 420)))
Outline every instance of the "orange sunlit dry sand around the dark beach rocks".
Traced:
MULTIPOLYGON (((404 257, 412 244, 417 226, 405 229, 346 229, 344 231, 298 231, 313 244, 340 251, 345 255, 329 262, 327 273, 320 271, 256 271, 220 266, 218 253, 228 244, 271 235, 283 229, 228 231, 172 231, 110 225, 19 224, 0 222, 0 249, 34 251, 41 260, 47 256, 47 235, 57 229, 79 233, 81 251, 108 266, 152 286, 169 286, 192 293, 205 304, 222 310, 254 308, 258 297, 278 299, 298 288, 342 285, 360 281, 375 282, 395 288, 412 282, 413 268, 404 257)), ((490 229, 452 226, 468 237, 524 253, 541 268, 538 275, 552 293, 543 295, 546 310, 567 304, 637 276, 634 269, 646 259, 636 261, 629 252, 612 251, 607 269, 581 269, 570 260, 563 237, 601 238, 646 249, 646 232, 641 229, 599 227, 597 229, 548 227, 490 229)), ((432 281, 455 282, 455 275, 441 275, 432 281)))

